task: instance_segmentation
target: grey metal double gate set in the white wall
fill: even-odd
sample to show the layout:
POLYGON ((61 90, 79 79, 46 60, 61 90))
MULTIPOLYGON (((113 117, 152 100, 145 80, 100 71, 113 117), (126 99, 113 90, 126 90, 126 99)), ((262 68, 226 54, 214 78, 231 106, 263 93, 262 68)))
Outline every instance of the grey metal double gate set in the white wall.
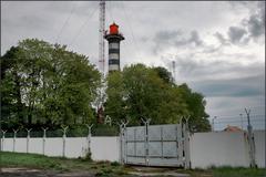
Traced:
POLYGON ((190 168, 187 124, 149 125, 121 129, 121 163, 190 168))

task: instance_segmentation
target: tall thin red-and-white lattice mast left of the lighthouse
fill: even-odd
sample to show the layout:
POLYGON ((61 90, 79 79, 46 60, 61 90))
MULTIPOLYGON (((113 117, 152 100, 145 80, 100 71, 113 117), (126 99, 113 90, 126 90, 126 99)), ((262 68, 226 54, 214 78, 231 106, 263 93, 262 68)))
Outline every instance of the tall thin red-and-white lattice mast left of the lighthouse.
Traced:
POLYGON ((100 0, 100 25, 99 25, 99 63, 100 63, 100 70, 102 70, 103 76, 105 75, 105 58, 104 58, 104 33, 105 33, 105 1, 100 0))

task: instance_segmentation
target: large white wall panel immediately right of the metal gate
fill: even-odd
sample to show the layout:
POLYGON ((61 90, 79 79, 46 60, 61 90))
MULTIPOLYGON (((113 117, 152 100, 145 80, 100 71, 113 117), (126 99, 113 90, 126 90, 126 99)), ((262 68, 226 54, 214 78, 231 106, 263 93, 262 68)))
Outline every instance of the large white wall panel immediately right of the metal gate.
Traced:
POLYGON ((191 136, 190 150, 192 168, 248 167, 249 165, 244 133, 195 133, 191 136))

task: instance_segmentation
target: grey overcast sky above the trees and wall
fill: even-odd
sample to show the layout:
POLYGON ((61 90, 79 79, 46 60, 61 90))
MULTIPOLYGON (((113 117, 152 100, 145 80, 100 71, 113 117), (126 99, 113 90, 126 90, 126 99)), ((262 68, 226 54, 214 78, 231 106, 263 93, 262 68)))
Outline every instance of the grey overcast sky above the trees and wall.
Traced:
MULTIPOLYGON (((125 38, 122 67, 166 67, 205 96, 217 131, 245 128, 245 107, 265 128, 265 2, 106 1, 106 30, 113 22, 125 38)), ((1 55, 28 38, 65 44, 99 67, 99 2, 1 1, 1 55)))

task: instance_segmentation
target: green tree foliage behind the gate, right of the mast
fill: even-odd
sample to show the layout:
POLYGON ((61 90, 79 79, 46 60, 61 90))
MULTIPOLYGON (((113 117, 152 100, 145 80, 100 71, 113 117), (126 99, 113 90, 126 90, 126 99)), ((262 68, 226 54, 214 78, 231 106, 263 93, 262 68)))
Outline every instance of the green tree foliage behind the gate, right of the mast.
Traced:
POLYGON ((129 118, 131 125, 140 125, 145 117, 152 118, 152 124, 172 124, 191 115, 192 131, 211 128, 204 96, 186 84, 174 84, 164 67, 125 66, 108 76, 106 94, 105 114, 114 121, 129 118))

